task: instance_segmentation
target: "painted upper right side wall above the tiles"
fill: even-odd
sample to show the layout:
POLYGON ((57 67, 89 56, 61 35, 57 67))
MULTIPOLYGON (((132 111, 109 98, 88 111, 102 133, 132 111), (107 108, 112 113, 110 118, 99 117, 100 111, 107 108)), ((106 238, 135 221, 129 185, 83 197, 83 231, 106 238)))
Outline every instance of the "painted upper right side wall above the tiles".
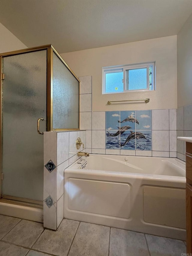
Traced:
POLYGON ((192 14, 177 35, 178 107, 192 104, 192 14))

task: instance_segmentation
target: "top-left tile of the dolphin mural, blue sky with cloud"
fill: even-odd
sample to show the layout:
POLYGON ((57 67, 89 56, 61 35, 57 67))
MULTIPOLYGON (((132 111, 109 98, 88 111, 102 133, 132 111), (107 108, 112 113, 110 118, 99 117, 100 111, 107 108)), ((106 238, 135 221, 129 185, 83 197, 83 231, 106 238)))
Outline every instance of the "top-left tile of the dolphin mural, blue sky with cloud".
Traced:
POLYGON ((118 130, 120 111, 106 111, 106 130, 118 130))

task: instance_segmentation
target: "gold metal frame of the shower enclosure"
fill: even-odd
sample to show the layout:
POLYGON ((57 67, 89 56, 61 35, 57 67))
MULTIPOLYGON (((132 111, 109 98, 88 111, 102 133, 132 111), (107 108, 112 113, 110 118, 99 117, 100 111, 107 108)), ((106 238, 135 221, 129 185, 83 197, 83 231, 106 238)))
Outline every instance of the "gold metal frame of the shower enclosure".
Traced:
MULTIPOLYGON (((43 202, 32 200, 28 198, 20 198, 14 197, 9 195, 1 196, 1 181, 3 179, 2 173, 2 80, 4 79, 4 74, 2 73, 2 61, 4 57, 29 53, 29 52, 36 52, 41 50, 47 50, 47 83, 46 83, 46 131, 72 131, 72 130, 79 130, 79 128, 69 128, 69 129, 62 129, 62 128, 55 128, 53 129, 53 52, 58 56, 58 58, 63 62, 63 64, 67 67, 67 69, 73 74, 73 76, 78 80, 80 86, 80 80, 75 75, 75 73, 69 68, 69 66, 64 62, 58 52, 52 47, 51 44, 43 45, 39 47, 27 48, 7 53, 0 54, 0 73, 1 73, 1 82, 0 82, 0 90, 1 90, 1 97, 0 97, 0 201, 6 203, 14 203, 19 205, 26 205, 26 206, 35 206, 38 208, 43 208, 43 202)), ((80 88, 79 88, 80 89, 80 88)), ((80 95, 80 94, 79 94, 80 95)), ((79 97, 80 100, 80 97, 79 97)), ((80 103, 79 103, 80 107, 80 103)), ((79 114, 80 118, 80 114, 79 114)))

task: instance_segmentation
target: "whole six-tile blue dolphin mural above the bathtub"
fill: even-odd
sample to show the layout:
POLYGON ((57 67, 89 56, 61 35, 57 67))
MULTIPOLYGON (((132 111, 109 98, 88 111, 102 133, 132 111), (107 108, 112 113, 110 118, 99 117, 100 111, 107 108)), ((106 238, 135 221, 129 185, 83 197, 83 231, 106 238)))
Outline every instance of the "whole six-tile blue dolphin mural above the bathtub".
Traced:
POLYGON ((152 150, 152 110, 107 111, 106 149, 152 150))

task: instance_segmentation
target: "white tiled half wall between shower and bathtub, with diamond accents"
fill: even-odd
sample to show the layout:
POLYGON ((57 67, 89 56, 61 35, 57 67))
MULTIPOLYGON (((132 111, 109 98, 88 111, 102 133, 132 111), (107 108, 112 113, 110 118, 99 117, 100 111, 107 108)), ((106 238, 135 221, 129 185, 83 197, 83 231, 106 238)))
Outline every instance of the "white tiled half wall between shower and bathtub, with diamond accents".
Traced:
POLYGON ((63 219, 64 169, 73 164, 77 151, 86 151, 86 131, 44 132, 44 227, 56 230, 63 219), (76 149, 80 137, 85 149, 76 149))

